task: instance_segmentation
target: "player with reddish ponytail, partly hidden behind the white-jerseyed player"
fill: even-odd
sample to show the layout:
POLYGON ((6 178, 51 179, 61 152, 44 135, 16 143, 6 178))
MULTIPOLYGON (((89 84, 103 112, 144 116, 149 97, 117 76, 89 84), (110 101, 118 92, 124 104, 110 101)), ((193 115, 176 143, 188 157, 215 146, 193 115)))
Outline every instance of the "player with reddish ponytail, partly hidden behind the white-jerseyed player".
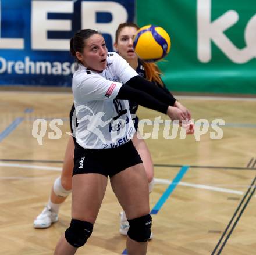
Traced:
MULTIPOLYGON (((137 55, 133 51, 133 38, 138 30, 138 26, 134 23, 123 23, 120 24, 116 30, 115 38, 115 48, 118 51, 119 55, 122 56, 130 64, 133 69, 137 71, 140 76, 147 78, 149 81, 154 82, 159 88, 163 89, 166 93, 170 93, 163 84, 160 78, 160 71, 156 64, 154 63, 144 63, 141 62, 137 55)), ((138 109, 138 104, 130 101, 130 112, 135 114, 138 109)), ((175 101, 175 107, 179 107, 182 112, 186 115, 188 119, 191 118, 190 112, 186 107, 182 106, 179 102, 175 101)), ((70 126, 72 128, 72 117, 74 113, 74 105, 70 111, 70 126)), ((74 123, 74 125, 76 125, 74 123)), ((136 135, 134 135, 132 141, 137 149, 141 159, 143 160, 144 168, 147 173, 149 192, 152 191, 154 186, 154 168, 151 159, 150 152, 147 148, 147 145, 143 139, 140 138, 140 134, 137 131, 138 127, 138 117, 135 117, 134 126, 136 128, 136 135)), ((35 228, 48 228, 52 223, 58 221, 58 211, 61 203, 66 199, 72 189, 72 170, 73 170, 73 152, 74 152, 74 141, 72 137, 69 138, 67 143, 63 170, 61 177, 58 177, 52 187, 51 196, 47 206, 41 214, 34 220, 35 228)), ((121 224, 120 224, 120 233, 127 235, 129 229, 129 223, 127 222, 126 215, 124 212, 120 213, 121 224)), ((152 235, 151 237, 152 238, 152 235)))

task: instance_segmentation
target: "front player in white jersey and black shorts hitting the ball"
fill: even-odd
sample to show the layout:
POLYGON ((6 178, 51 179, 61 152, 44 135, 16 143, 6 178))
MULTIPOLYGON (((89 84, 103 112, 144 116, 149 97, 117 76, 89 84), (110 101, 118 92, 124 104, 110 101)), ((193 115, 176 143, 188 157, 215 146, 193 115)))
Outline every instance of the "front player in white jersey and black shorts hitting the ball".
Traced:
POLYGON ((127 252, 146 254, 150 238, 148 181, 131 139, 135 128, 129 103, 133 100, 182 123, 186 114, 173 107, 170 94, 140 77, 116 53, 108 53, 95 30, 80 30, 70 40, 79 67, 72 88, 78 119, 72 177, 72 220, 55 254, 74 254, 93 231, 107 178, 129 221, 127 252))

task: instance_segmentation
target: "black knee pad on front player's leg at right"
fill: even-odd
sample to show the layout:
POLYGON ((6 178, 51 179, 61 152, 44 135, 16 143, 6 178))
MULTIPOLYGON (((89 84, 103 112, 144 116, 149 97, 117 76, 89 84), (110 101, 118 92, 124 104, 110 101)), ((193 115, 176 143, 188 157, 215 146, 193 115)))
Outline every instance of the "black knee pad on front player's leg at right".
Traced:
POLYGON ((129 230, 128 236, 136 242, 147 242, 151 234, 151 224, 152 218, 150 214, 142 216, 140 218, 135 218, 133 220, 128 220, 129 230))

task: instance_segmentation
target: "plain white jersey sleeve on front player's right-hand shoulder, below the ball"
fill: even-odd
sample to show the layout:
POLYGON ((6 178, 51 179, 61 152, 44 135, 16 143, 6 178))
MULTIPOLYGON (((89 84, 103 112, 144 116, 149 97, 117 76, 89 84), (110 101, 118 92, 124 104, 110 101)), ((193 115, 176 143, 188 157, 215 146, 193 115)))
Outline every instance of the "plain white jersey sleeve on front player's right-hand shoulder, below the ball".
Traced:
POLYGON ((138 73, 130 66, 129 63, 118 53, 114 53, 115 56, 115 67, 116 67, 116 75, 119 77, 119 80, 125 84, 134 76, 137 76, 138 73))

